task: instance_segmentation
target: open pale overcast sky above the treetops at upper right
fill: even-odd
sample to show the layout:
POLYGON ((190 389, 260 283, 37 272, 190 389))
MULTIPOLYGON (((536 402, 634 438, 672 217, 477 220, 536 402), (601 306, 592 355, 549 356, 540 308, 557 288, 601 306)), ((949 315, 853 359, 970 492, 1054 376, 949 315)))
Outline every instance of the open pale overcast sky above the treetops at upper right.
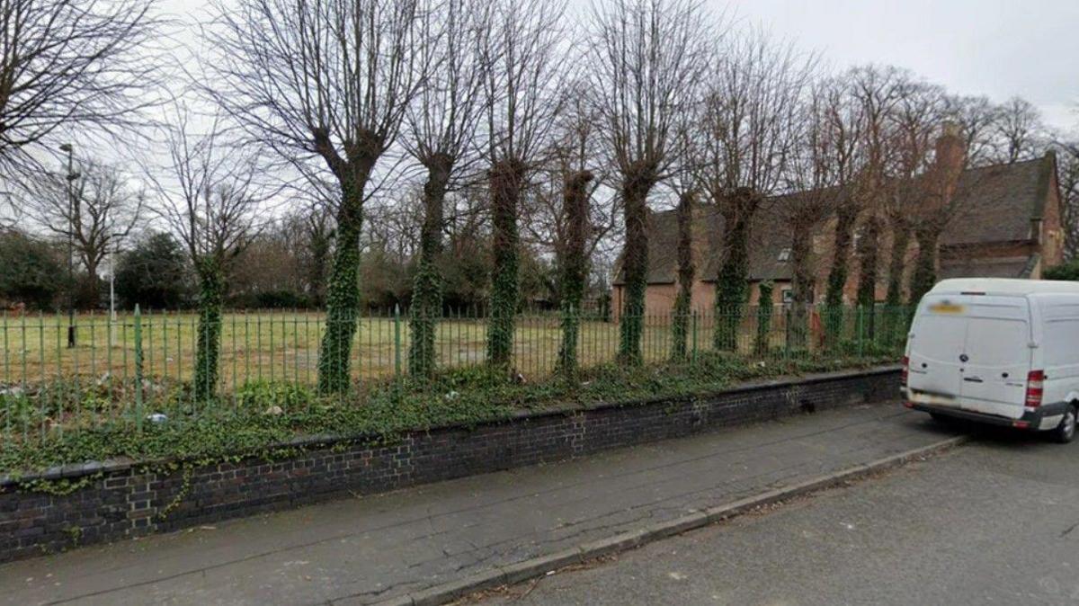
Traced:
POLYGON ((708 0, 818 51, 836 68, 909 68, 950 91, 1019 95, 1079 125, 1079 0, 708 0))

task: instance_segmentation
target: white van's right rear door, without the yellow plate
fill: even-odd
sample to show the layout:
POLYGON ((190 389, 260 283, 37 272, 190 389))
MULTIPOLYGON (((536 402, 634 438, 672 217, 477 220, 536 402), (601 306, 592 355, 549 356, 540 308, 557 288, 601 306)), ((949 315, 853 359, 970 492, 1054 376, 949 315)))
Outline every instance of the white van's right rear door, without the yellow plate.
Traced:
POLYGON ((1025 297, 972 295, 967 306, 960 407, 1019 418, 1030 370, 1030 309, 1025 297))

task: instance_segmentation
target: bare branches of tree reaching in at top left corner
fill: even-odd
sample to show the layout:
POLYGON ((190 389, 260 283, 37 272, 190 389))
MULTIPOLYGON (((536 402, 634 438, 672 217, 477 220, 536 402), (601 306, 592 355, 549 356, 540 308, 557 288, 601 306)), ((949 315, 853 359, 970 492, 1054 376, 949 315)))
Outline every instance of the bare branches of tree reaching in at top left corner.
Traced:
MULTIPOLYGON (((0 0, 0 170, 37 168, 58 132, 145 123, 155 0, 0 0), (36 151, 37 150, 37 151, 36 151)), ((36 170, 35 170, 36 171, 36 170)))

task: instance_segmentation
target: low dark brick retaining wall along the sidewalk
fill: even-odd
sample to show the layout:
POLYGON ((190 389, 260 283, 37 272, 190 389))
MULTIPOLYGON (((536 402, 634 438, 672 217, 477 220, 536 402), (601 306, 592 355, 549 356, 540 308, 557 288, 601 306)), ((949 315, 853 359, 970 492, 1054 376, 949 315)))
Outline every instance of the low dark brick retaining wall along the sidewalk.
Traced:
POLYGON ((884 401, 898 396, 898 371, 887 369, 750 385, 696 399, 522 413, 473 429, 416 431, 391 445, 323 442, 288 460, 251 458, 187 476, 118 465, 64 496, 23 492, 9 482, 0 486, 0 562, 346 493, 378 493, 566 459, 807 409, 884 401))

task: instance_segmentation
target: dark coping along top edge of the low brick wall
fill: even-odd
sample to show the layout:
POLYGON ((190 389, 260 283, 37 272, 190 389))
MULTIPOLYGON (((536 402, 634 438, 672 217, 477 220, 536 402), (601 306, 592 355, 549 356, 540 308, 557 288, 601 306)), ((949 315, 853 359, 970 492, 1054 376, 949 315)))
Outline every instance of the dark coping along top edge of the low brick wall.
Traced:
MULTIPOLYGON (((778 378, 768 378, 762 381, 748 381, 745 383, 739 383, 730 387, 723 389, 718 389, 715 391, 708 391, 694 395, 684 396, 655 396, 652 398, 643 399, 631 399, 631 400, 611 400, 604 402, 592 402, 592 403, 565 403, 557 404, 552 407, 547 407, 536 410, 518 410, 514 411, 509 416, 502 418, 492 418, 490 421, 483 421, 472 425, 469 427, 482 427, 490 425, 498 425, 503 423, 508 423, 513 421, 525 421, 530 418, 543 418, 548 416, 557 415, 568 415, 584 411, 597 411, 604 409, 617 409, 626 407, 645 407, 650 404, 656 404, 661 402, 685 402, 693 399, 708 398, 711 396, 718 396, 721 394, 742 394, 749 391, 756 391, 761 389, 769 389, 775 387, 787 387, 795 384, 801 385, 811 385, 815 383, 820 383, 824 381, 834 381, 842 378, 850 378, 856 376, 873 376, 878 374, 886 374, 890 372, 896 372, 899 370, 898 364, 885 364, 871 367, 866 369, 855 369, 855 370, 841 370, 833 372, 818 372, 809 373, 804 375, 786 375, 778 378)), ((426 428, 416 428, 412 431, 418 432, 429 432, 437 431, 441 429, 460 429, 462 426, 457 425, 434 425, 426 428)), ((375 436, 370 435, 358 435, 358 436, 340 436, 334 433, 323 433, 313 436, 301 436, 293 440, 287 442, 279 442, 276 444, 271 444, 267 446, 265 450, 272 451, 276 449, 289 449, 289 447, 306 447, 306 446, 331 446, 340 442, 361 442, 364 440, 374 439, 375 436)), ((233 455, 245 455, 250 453, 232 453, 233 455)), ((254 456, 254 455, 252 455, 254 456)), ((148 465, 163 465, 168 463, 182 462, 179 457, 163 457, 153 460, 135 460, 128 457, 120 457, 114 459, 107 459, 104 462, 91 460, 86 463, 79 464, 68 464, 68 465, 57 465, 55 467, 50 467, 42 471, 26 473, 26 474, 3 474, 0 476, 0 488, 8 486, 14 486, 21 482, 31 482, 36 480, 54 481, 60 479, 77 479, 85 476, 93 476, 95 473, 112 473, 120 472, 131 469, 133 467, 148 466, 148 465)))

